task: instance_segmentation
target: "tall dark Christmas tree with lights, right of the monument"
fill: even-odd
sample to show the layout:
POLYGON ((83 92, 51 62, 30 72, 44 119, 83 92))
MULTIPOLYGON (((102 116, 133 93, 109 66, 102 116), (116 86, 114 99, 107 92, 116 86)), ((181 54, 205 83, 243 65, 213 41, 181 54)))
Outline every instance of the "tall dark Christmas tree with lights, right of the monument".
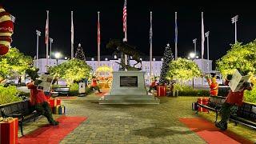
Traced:
POLYGON ((163 62, 162 62, 162 69, 161 69, 159 84, 167 83, 166 72, 167 72, 167 70, 169 70, 169 64, 170 64, 170 61, 172 61, 172 60, 174 60, 174 55, 170 49, 170 44, 167 43, 166 50, 163 55, 163 62))

